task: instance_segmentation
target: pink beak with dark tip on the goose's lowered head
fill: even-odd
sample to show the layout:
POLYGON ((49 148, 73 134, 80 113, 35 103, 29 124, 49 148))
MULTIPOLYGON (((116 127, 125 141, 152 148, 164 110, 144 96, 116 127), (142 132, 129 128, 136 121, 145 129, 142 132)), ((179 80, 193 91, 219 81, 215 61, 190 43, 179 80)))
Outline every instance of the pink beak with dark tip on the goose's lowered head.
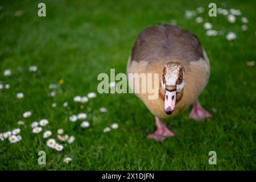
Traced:
POLYGON ((170 115, 175 109, 176 104, 176 89, 166 90, 166 97, 164 99, 164 111, 170 115))

